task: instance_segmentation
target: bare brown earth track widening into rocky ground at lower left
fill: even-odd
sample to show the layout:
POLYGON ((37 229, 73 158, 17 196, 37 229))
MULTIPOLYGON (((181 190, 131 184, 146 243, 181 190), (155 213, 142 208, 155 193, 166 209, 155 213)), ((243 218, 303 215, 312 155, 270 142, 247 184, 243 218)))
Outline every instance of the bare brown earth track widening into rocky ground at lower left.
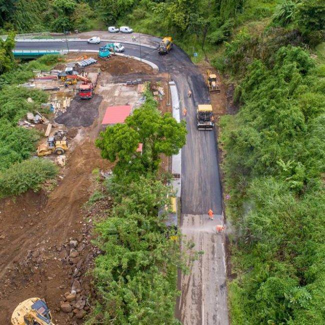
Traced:
MULTIPOLYGON (((136 75, 134 71, 141 71, 143 63, 132 63, 137 64, 131 77, 136 75)), ((149 75, 150 69, 142 72, 149 75)), ((71 138, 67 163, 56 180, 46 182, 37 193, 28 191, 0 200, 0 324, 9 324, 15 306, 33 296, 46 299, 56 324, 82 323, 89 311, 93 288, 87 271, 100 253, 90 244, 91 221, 110 202, 90 209, 84 204, 97 186, 92 171, 112 167, 100 157, 94 140, 102 130, 108 105, 133 104, 141 96, 136 86, 111 82, 111 78, 103 71, 95 96, 72 100, 67 111, 56 118, 67 126, 71 138), (71 289, 75 296, 69 295, 71 289)), ((162 111, 169 109, 164 107, 165 100, 159 106, 162 111)))

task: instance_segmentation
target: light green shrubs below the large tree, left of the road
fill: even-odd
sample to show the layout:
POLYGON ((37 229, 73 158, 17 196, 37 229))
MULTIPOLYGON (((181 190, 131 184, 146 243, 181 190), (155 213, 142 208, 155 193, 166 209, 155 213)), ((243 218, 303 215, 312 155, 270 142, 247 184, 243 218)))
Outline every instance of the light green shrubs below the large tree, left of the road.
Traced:
POLYGON ((123 183, 113 176, 108 192, 114 200, 110 215, 96 225, 94 276, 101 296, 89 324, 111 319, 117 324, 177 324, 174 317, 177 269, 184 269, 179 240, 171 240, 158 216, 170 188, 140 177, 123 183))

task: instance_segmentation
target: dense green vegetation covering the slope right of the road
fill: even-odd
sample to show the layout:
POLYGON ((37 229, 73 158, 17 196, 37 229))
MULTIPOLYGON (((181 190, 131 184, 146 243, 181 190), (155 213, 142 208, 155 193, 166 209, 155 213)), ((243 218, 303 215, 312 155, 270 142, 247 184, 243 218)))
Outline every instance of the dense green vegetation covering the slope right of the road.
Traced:
POLYGON ((240 106, 220 122, 234 324, 325 323, 324 57, 306 50, 324 12, 320 1, 282 1, 265 30, 241 28, 214 60, 240 106))

